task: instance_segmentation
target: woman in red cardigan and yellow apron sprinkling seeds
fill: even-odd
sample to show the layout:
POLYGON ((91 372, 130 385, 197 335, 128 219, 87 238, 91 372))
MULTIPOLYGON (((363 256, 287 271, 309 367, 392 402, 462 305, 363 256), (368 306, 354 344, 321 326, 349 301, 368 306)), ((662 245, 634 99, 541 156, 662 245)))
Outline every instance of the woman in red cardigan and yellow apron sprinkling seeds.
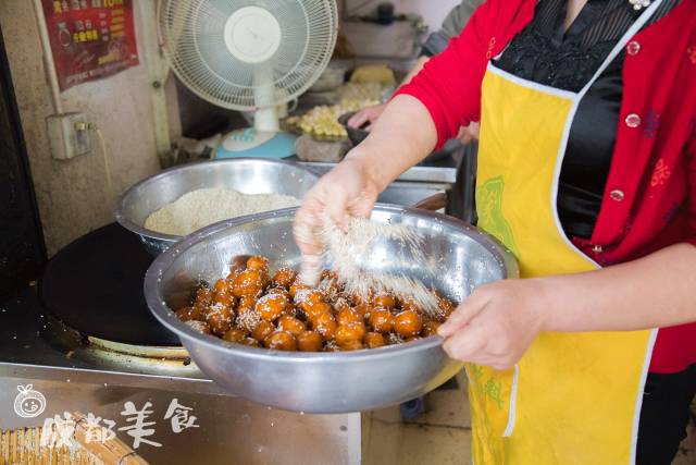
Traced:
POLYGON ((478 227, 524 279, 477 289, 439 331, 467 363, 476 464, 676 452, 696 391, 694 83, 696 0, 488 0, 306 197, 312 262, 318 212, 369 216, 481 120, 478 227))

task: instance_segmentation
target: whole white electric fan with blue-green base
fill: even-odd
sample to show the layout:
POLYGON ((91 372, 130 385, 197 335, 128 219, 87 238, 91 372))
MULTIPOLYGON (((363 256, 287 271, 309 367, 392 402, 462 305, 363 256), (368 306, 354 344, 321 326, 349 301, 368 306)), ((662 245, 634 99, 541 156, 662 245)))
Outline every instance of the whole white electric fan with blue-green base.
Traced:
POLYGON ((322 74, 336 45, 335 0, 163 0, 164 52, 174 73, 213 105, 253 111, 253 127, 221 142, 216 158, 285 158, 295 137, 278 110, 322 74))

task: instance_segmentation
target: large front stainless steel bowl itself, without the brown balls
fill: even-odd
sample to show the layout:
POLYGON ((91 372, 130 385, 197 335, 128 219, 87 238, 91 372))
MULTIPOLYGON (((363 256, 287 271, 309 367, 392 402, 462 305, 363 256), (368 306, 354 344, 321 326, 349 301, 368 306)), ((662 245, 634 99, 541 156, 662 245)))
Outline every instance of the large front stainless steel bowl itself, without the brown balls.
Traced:
MULTIPOLYGON (((213 282, 240 255, 261 254, 273 267, 297 267, 291 236, 296 209, 277 210, 214 224, 160 255, 145 279, 154 316, 175 332, 211 379, 241 397, 308 413, 347 413, 382 407, 424 394, 461 369, 447 357, 442 339, 340 353, 287 353, 229 344, 181 322, 172 308, 187 305, 199 280, 213 282)), ((437 269, 396 254, 398 243, 380 242, 364 265, 418 277, 455 301, 474 287, 518 277, 513 257, 494 238, 438 213, 378 205, 373 219, 408 224, 424 238, 425 253, 442 257, 437 269), (398 258, 400 257, 400 258, 398 258)))

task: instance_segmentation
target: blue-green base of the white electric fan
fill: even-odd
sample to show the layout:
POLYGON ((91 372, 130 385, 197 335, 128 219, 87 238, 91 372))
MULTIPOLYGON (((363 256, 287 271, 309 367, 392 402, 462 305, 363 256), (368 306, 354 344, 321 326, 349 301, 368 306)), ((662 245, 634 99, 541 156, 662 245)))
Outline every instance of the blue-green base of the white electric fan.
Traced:
POLYGON ((216 159, 224 158, 288 158, 295 155, 293 134, 257 131, 252 127, 227 134, 217 150, 216 159))

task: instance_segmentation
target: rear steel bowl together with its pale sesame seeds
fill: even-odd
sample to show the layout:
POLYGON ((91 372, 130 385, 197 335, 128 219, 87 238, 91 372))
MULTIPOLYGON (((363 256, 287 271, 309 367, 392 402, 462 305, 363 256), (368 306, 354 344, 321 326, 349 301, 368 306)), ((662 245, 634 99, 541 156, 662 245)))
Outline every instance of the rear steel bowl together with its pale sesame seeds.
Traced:
POLYGON ((299 205, 318 181, 282 160, 235 158, 189 163, 148 178, 119 199, 114 216, 153 255, 217 221, 299 205))

